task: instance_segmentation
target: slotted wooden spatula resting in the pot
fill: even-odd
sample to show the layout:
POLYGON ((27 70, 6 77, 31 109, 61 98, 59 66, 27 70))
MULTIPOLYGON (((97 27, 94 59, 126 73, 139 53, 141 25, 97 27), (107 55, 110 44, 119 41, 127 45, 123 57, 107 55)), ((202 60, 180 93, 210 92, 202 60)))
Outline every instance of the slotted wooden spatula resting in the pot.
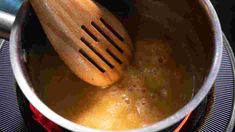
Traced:
POLYGON ((118 81, 132 53, 130 37, 93 0, 30 0, 65 64, 82 80, 105 88, 118 81))

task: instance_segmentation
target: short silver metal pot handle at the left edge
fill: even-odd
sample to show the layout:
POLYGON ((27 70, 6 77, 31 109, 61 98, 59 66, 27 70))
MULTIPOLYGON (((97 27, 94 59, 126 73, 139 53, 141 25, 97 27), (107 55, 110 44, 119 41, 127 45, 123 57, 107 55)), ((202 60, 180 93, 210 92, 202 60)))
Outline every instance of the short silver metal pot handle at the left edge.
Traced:
POLYGON ((14 21, 14 15, 0 11, 0 38, 9 39, 14 21))

